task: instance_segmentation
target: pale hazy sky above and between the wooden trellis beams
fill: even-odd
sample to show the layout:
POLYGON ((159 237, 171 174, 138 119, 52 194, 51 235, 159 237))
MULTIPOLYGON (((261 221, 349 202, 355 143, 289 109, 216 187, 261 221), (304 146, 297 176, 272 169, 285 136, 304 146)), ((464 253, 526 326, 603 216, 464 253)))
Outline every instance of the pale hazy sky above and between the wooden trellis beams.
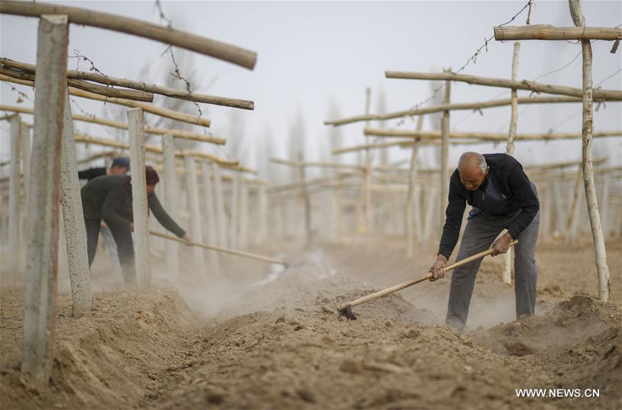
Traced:
MULTIPOLYGON (((57 2, 122 14, 160 23, 153 1, 64 1, 57 2)), ((256 166, 258 147, 270 135, 276 156, 284 157, 290 129, 297 117, 303 119, 305 146, 310 159, 319 159, 320 150, 328 153, 328 130, 322 122, 329 118, 330 101, 339 108, 341 117, 364 112, 365 88, 372 89, 372 112, 377 112, 379 95, 384 94, 386 110, 404 110, 431 95, 428 81, 384 78, 384 70, 439 71, 457 70, 490 37, 493 26, 507 22, 527 1, 163 1, 164 13, 173 27, 211 39, 225 41, 258 52, 254 70, 246 70, 210 57, 179 50, 182 73, 194 72, 191 80, 197 92, 252 99, 254 111, 202 105, 204 115, 212 121, 211 132, 230 137, 233 133, 247 147, 246 164, 256 166), (234 113, 235 111, 235 113, 234 113), (232 124, 238 127, 232 129, 232 124), (243 124, 243 131, 241 131, 243 124)), ((589 26, 614 27, 622 23, 621 1, 583 1, 583 12, 589 26)), ((523 12, 512 23, 525 24, 523 12)), ((531 10, 531 24, 572 26, 567 1, 536 1, 531 10)), ((34 64, 36 59, 37 19, 3 15, 0 17, 0 54, 34 64)), ((614 55, 609 41, 596 41, 594 50, 594 84, 607 79, 603 88, 621 89, 621 50, 614 55)), ((163 55, 165 46, 97 28, 70 26, 70 54, 79 50, 95 62, 102 72, 115 77, 140 79, 163 84, 168 76, 170 57, 163 55)), ((486 77, 510 77, 513 42, 491 41, 488 52, 482 50, 476 64, 469 64, 466 74, 486 77)), ((522 41, 519 79, 535 79, 568 64, 581 50, 580 44, 565 41, 522 41)), ((68 60, 76 68, 75 59, 68 60)), ((82 62, 81 70, 88 65, 82 62)), ((581 88, 581 55, 567 68, 538 79, 543 83, 581 88)), ((34 97, 32 89, 15 86, 34 97)), ((178 84, 182 88, 182 84, 178 84)), ((15 104, 17 93, 2 83, 2 104, 15 104)), ((519 96, 528 92, 519 92, 519 96)), ((509 90, 452 84, 454 102, 484 101, 507 98, 509 90), (503 94, 502 94, 503 93, 503 94)), ((158 102, 161 102, 158 99, 158 102)), ((122 115, 122 108, 77 99, 87 112, 95 115, 122 115), (115 111, 117 112, 116 114, 115 111)), ((24 106, 32 106, 25 101, 24 106)), ((519 133, 581 133, 581 104, 519 107, 519 133)), ((77 108, 72 106, 75 113, 77 108)), ((190 112, 196 110, 190 105, 190 112)), ((466 111, 455 112, 451 126, 456 130, 507 132, 509 107, 483 111, 483 116, 466 111)), ((594 130, 622 128, 619 103, 607 103, 594 113, 594 130)), ((30 117, 31 118, 31 117, 30 117)), ((28 117, 26 117, 29 121, 28 117)), ((149 116, 147 115, 148 121, 149 116)), ((393 128, 397 120, 387 121, 393 128)), ((375 124, 373 124, 375 125, 375 124)), ((424 127, 433 127, 426 119, 424 127)), ((341 145, 362 144, 364 124, 344 126, 341 145)), ((399 129, 414 128, 406 121, 399 129)), ((106 137, 109 130, 76 124, 77 130, 106 137)), ((1 126, 1 157, 8 157, 8 125, 1 126)), ((199 131, 201 132, 201 131, 199 131)), ((619 164, 622 139, 596 141, 596 154, 608 153, 612 163, 619 164)), ((498 146, 471 146, 483 152, 505 150, 498 146)), ((463 148, 451 149, 455 161, 463 148)), ((422 150, 420 159, 435 164, 433 150, 422 150)), ((224 154, 223 154, 224 155, 224 154)), ((406 157, 403 150, 391 151, 392 161, 406 157)), ((579 159, 581 141, 547 144, 516 144, 516 157, 525 163, 579 159)), ((354 156, 351 155, 350 159, 354 156)), ((4 170, 3 170, 4 171, 4 170)))

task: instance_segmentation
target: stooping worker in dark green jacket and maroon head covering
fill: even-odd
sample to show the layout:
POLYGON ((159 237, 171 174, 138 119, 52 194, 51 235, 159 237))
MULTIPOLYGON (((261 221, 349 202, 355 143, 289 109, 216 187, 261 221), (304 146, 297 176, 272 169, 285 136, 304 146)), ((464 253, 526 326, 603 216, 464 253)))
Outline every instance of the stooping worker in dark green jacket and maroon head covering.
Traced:
MULTIPOLYGON (((186 232, 164 211, 156 193, 156 184, 160 181, 158 173, 151 166, 145 167, 147 177, 147 203, 149 210, 158 222, 171 233, 185 240, 191 240, 186 232)), ((117 244, 121 262, 121 272, 125 282, 136 282, 134 269, 134 245, 132 242, 133 212, 132 186, 129 175, 102 175, 91 179, 82 187, 82 211, 86 226, 86 249, 88 266, 91 266, 97 251, 102 220, 110 228, 117 244)))

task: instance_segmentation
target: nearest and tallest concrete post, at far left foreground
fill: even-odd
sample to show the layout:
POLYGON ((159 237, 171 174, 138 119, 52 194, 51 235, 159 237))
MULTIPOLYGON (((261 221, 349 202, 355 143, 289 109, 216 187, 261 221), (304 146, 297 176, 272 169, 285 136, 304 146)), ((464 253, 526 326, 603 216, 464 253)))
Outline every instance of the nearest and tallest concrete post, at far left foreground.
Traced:
POLYGON ((60 147, 66 94, 68 21, 45 15, 37 32, 35 135, 28 195, 26 308, 21 371, 48 382, 56 316, 60 147), (53 101, 53 103, 50 103, 53 101))

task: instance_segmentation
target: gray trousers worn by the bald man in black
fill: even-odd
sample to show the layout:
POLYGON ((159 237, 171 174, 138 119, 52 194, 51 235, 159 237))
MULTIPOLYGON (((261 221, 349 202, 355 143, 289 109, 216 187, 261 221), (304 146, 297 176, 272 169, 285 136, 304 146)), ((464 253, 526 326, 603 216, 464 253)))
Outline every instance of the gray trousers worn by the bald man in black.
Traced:
MULTIPOLYGON (((531 188, 536 187, 531 183, 531 188)), ((479 214, 469 222, 460 242, 460 251, 456 260, 464 259, 475 253, 486 251, 495 238, 505 229, 516 215, 492 216, 479 214)), ((516 318, 522 315, 533 315, 536 310, 536 280, 538 267, 536 266, 536 241, 540 227, 540 212, 536 214, 531 224, 518 235, 518 244, 514 248, 514 295, 516 297, 516 318)), ((469 305, 475 275, 480 269, 482 260, 476 260, 456 268, 451 275, 451 289, 449 291, 449 306, 447 307, 446 324, 458 331, 464 329, 466 317, 469 315, 469 305)))

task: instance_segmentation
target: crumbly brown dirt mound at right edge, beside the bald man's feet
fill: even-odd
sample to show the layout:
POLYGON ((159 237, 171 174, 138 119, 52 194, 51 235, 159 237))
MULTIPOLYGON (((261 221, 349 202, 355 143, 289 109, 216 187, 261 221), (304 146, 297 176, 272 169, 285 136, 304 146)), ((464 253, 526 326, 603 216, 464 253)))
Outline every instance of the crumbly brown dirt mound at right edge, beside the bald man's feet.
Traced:
MULTIPOLYGON (((614 304, 585 295, 561 302, 544 316, 500 324, 471 334, 476 343, 505 355, 525 356, 556 375, 559 386, 600 389, 621 408, 622 316, 614 304)), ((576 399, 586 407, 590 400, 576 399)), ((602 407, 608 408, 608 407, 602 407)))

